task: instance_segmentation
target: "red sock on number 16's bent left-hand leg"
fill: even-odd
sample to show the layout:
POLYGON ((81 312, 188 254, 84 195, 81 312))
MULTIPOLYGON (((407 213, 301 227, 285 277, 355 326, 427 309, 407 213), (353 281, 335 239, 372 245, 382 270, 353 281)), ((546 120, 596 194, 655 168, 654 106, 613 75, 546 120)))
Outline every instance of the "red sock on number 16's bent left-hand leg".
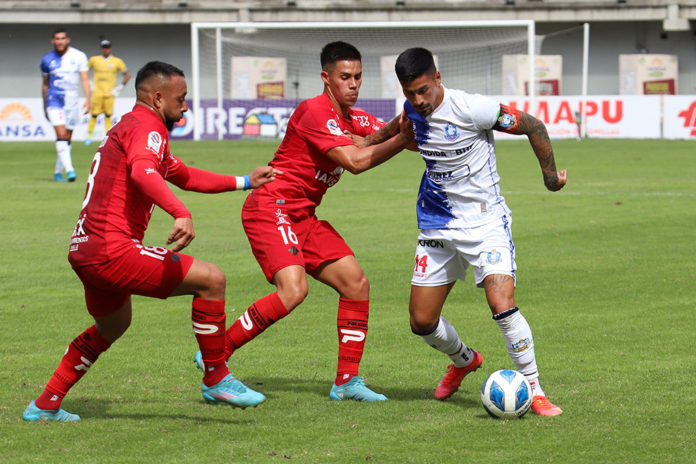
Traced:
POLYGON ((249 306, 225 333, 225 359, 234 350, 253 340, 271 324, 290 314, 277 292, 267 295, 249 306))

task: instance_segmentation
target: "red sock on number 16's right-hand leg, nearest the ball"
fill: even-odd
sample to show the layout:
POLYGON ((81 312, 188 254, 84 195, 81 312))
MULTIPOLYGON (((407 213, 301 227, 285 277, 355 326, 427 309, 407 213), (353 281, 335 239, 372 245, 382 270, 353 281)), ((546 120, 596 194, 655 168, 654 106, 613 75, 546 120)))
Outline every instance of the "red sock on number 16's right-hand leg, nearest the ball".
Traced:
POLYGON ((367 319, 370 312, 370 300, 338 300, 338 368, 336 385, 348 382, 358 375, 367 337, 367 319))

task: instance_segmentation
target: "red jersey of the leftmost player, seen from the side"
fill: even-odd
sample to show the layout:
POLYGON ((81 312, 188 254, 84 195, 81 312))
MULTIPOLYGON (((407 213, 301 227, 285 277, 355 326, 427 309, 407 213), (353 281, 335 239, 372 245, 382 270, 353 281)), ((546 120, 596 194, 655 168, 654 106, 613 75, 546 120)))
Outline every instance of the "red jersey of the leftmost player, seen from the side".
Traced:
POLYGON ((131 168, 142 161, 151 166, 144 174, 156 171, 164 179, 186 169, 169 152, 169 132, 159 115, 136 105, 108 132, 94 155, 70 241, 68 260, 73 267, 108 261, 132 246, 133 240, 142 241, 155 204, 164 205, 174 217, 191 217, 168 188, 160 190, 161 198, 151 198, 136 186, 131 168))

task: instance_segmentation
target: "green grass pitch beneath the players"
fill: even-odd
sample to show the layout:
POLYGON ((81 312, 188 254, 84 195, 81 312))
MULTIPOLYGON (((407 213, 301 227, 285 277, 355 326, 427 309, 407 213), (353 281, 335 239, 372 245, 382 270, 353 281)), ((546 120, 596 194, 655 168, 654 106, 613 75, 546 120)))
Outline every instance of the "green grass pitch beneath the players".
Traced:
MULTIPOLYGON (((235 175, 266 164, 276 142, 174 142, 185 162, 235 175)), ((390 401, 332 402, 334 292, 305 302, 237 352, 232 372, 268 400, 212 406, 193 364, 190 298, 134 297, 130 330, 70 392, 83 420, 25 423, 70 341, 91 325, 68 242, 94 146, 76 143, 74 184, 51 180, 52 143, 0 144, 0 463, 683 463, 696 454, 696 144, 560 140, 569 183, 544 189, 526 140, 498 143, 513 211, 517 303, 534 332, 556 418, 489 418, 488 373, 512 367, 482 290, 460 282, 444 308, 483 367, 448 401, 432 398, 448 359, 410 332, 408 294, 423 169, 404 152, 344 174, 318 216, 353 247, 371 283, 361 374, 390 401)), ((273 290, 240 224, 243 192, 177 191, 197 237, 187 252, 228 276, 228 323, 273 290)), ((146 243, 164 245, 157 210, 146 243)))

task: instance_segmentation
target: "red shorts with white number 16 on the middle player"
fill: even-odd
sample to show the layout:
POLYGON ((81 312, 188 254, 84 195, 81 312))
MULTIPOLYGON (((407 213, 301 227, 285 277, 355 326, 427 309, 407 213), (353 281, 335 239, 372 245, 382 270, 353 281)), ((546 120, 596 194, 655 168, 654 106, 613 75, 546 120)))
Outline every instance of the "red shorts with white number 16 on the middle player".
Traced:
POLYGON ((247 197, 242 225, 269 282, 288 266, 303 266, 314 276, 321 264, 354 254, 336 229, 317 219, 311 210, 289 210, 286 204, 259 196, 247 197))

